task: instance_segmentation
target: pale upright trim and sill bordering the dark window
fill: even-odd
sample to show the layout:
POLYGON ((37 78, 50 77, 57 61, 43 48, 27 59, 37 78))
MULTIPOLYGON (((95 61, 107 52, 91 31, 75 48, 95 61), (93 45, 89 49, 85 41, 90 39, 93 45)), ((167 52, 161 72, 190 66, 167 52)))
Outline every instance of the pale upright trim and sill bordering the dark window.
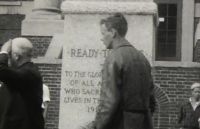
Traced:
POLYGON ((152 61, 152 66, 200 67, 193 62, 195 0, 182 2, 181 61, 152 61))

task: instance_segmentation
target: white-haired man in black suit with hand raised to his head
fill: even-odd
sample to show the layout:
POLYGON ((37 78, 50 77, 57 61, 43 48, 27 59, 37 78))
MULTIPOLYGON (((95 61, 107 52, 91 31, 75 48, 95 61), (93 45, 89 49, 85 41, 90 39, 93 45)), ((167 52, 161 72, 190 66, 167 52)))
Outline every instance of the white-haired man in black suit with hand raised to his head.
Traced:
POLYGON ((42 77, 31 62, 32 49, 26 38, 15 38, 1 48, 0 129, 44 129, 42 77))

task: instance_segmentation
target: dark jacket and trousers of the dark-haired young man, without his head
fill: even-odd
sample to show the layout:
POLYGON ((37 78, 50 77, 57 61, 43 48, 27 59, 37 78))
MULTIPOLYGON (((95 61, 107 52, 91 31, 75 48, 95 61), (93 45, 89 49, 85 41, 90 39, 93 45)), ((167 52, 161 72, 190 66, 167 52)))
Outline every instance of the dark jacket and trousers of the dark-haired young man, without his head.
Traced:
POLYGON ((127 40, 113 42, 102 71, 97 129, 152 129, 151 67, 127 40))

